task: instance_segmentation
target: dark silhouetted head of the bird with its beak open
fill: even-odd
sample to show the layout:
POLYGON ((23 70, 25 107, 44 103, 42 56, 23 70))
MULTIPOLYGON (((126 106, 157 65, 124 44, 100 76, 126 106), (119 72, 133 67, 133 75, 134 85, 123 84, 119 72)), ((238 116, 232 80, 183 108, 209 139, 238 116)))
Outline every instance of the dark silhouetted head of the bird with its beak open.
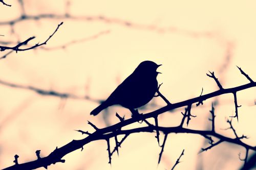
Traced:
POLYGON ((146 75, 155 75, 157 76, 158 74, 161 74, 161 72, 157 71, 157 68, 161 66, 162 64, 156 64, 153 61, 143 61, 139 64, 139 66, 136 68, 138 72, 141 74, 146 74, 146 75))

